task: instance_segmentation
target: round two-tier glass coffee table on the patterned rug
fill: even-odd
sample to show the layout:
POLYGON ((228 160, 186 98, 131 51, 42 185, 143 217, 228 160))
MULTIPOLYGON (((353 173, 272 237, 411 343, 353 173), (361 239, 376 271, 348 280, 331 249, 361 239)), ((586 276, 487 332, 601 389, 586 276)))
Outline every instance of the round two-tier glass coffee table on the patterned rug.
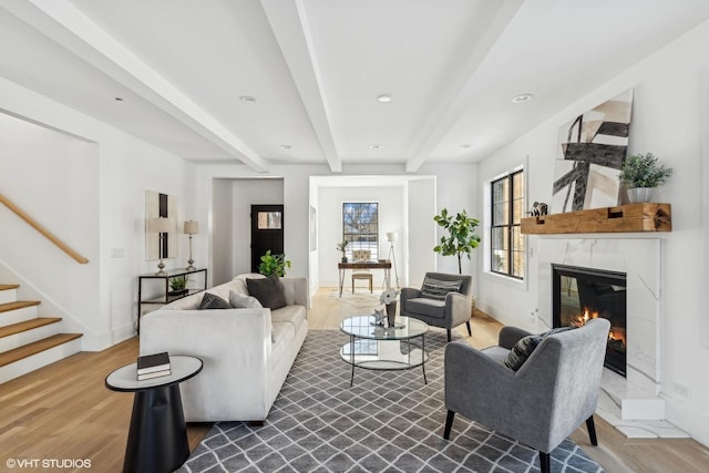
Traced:
POLYGON ((354 367, 367 370, 410 370, 421 367, 425 379, 425 338, 429 326, 410 317, 398 317, 394 328, 374 325, 373 316, 357 316, 342 320, 340 330, 350 342, 340 349, 340 358, 352 366, 350 385, 354 382, 354 367), (417 345, 414 339, 421 339, 417 345))

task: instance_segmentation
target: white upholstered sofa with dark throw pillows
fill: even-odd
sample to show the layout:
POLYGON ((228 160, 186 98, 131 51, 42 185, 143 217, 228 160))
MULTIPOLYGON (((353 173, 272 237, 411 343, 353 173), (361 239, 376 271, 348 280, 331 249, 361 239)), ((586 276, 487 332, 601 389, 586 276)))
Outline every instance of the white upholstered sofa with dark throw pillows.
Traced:
MULTIPOLYGON (((246 278, 207 289, 225 300, 248 295, 246 278)), ((176 300, 141 319, 141 354, 167 351, 204 362, 181 384, 187 422, 264 421, 308 333, 306 278, 280 278, 286 307, 198 310, 204 292, 176 300), (273 329, 273 332, 271 332, 273 329)))

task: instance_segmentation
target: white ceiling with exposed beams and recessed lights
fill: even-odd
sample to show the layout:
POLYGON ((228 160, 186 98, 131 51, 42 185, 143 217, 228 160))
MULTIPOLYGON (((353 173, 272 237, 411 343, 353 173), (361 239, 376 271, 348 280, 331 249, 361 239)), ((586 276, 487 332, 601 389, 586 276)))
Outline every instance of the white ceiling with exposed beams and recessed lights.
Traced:
POLYGON ((707 0, 0 0, 0 74, 194 162, 415 172, 484 158, 707 18, 707 0))

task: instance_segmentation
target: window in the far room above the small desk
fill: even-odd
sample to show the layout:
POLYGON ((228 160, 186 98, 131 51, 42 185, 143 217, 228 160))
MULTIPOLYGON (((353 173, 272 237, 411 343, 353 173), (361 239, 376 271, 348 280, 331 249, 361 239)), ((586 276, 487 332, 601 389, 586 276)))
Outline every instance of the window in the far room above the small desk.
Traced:
POLYGON ((369 249, 372 259, 379 259, 379 204, 372 202, 346 202, 342 204, 342 239, 347 257, 353 249, 369 249))

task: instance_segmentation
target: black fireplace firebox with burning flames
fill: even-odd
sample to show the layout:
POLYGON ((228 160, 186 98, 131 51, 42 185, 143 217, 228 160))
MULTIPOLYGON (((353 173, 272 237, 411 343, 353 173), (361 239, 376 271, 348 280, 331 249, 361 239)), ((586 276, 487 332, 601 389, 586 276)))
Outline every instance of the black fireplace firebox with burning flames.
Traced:
POLYGON ((552 322, 580 327, 592 318, 610 321, 605 366, 626 376, 626 274, 552 264, 552 322))

